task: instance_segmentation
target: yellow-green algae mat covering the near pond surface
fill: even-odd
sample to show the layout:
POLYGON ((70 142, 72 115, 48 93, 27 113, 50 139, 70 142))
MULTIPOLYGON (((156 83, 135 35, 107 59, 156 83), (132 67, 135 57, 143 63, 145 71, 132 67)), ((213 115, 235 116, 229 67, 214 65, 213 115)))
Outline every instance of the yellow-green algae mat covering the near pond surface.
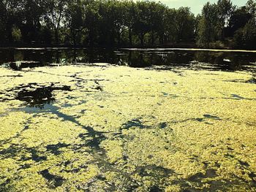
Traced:
POLYGON ((249 72, 0 68, 0 191, 256 191, 249 72))

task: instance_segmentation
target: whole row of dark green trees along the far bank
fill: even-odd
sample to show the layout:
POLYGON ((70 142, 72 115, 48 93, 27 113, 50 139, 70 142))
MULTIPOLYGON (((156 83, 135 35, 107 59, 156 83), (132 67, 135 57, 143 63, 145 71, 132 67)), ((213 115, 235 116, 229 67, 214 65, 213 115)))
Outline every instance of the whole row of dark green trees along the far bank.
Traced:
POLYGON ((256 46, 256 2, 206 3, 201 14, 156 1, 0 0, 0 45, 256 46))

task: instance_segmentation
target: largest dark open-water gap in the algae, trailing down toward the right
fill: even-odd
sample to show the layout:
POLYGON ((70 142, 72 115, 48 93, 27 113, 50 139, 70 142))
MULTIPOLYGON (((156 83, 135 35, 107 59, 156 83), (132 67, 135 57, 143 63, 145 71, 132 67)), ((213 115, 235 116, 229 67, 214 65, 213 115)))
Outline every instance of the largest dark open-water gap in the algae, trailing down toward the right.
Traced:
MULTIPOLYGON (((53 91, 72 91, 69 86, 56 86, 52 84, 51 86, 40 87, 36 83, 31 83, 16 89, 19 91, 15 99, 26 102, 26 106, 21 108, 21 110, 33 114, 48 112, 57 115, 61 120, 67 120, 75 123, 88 131, 88 133, 81 134, 79 137, 82 139, 86 139, 87 137, 92 138, 89 142, 87 142, 86 146, 100 150, 99 144, 103 139, 105 139, 105 136, 101 132, 94 131, 94 128, 89 126, 83 126, 78 120, 76 120, 74 116, 66 115, 63 112, 60 112, 61 108, 54 105, 55 98, 53 96, 53 91)), ((52 151, 53 153, 58 153, 57 150, 60 147, 59 145, 56 145, 55 147, 48 146, 48 150, 52 151)))

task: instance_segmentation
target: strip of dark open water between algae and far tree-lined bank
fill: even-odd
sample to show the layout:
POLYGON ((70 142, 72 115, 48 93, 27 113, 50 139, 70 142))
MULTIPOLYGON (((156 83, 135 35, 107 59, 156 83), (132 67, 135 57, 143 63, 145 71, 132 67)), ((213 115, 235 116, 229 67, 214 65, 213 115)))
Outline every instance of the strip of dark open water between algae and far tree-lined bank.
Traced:
POLYGON ((0 50, 0 65, 20 70, 54 64, 108 63, 161 69, 191 68, 256 72, 256 53, 192 50, 38 49, 0 50))

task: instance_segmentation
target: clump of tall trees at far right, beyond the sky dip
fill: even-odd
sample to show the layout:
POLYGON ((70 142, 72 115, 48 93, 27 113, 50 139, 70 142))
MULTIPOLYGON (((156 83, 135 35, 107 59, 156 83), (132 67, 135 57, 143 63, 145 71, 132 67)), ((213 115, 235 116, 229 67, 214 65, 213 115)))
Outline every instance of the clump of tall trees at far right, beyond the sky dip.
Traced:
POLYGON ((254 0, 249 0, 246 7, 238 8, 230 0, 219 0, 217 4, 208 2, 200 17, 197 44, 225 47, 223 42, 231 40, 236 47, 255 48, 255 12, 254 0))

